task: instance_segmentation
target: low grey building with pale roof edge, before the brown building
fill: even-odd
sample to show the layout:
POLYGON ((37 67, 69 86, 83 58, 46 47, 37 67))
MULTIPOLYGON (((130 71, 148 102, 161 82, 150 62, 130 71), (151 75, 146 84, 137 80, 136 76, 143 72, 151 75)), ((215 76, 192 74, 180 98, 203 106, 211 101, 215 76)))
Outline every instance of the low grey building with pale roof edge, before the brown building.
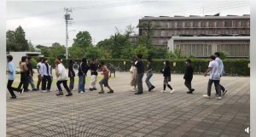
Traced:
POLYGON ((168 41, 170 51, 181 49, 186 56, 208 57, 217 51, 229 53, 230 58, 248 58, 250 56, 250 37, 172 37, 168 41))

